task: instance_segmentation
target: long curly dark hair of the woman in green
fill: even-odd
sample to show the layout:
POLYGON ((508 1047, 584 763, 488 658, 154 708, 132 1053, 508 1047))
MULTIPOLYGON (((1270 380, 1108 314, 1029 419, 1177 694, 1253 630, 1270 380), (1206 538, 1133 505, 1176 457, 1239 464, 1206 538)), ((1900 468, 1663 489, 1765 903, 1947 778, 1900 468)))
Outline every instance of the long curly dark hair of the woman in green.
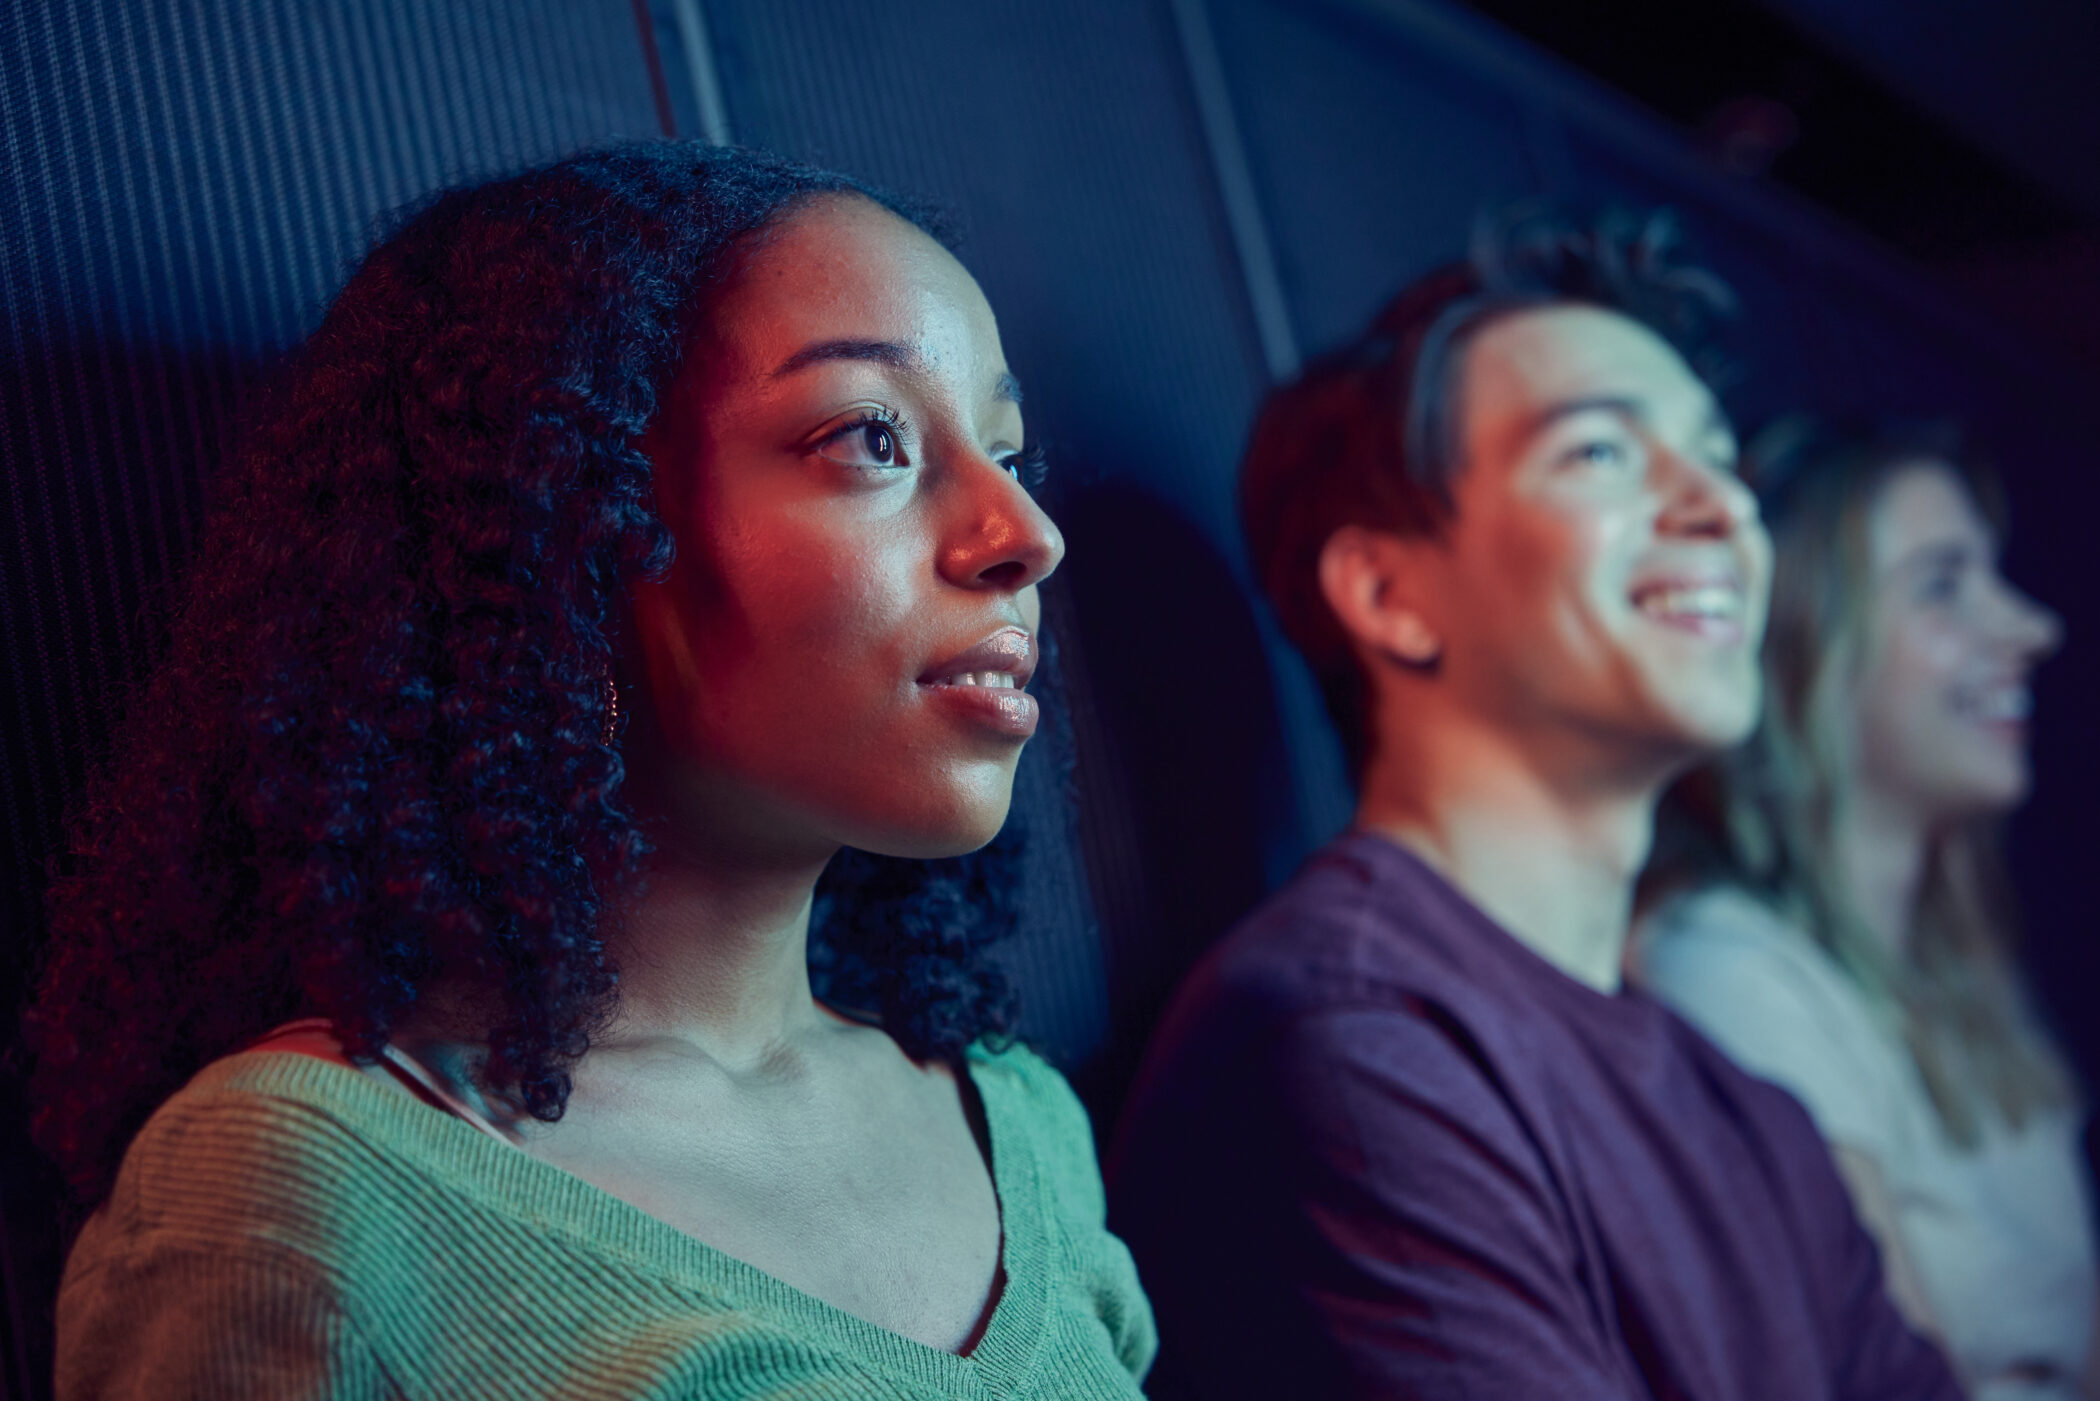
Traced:
MULTIPOLYGON (((439 973, 489 998, 485 1086, 561 1117, 647 855, 605 687, 626 584, 672 559, 638 441, 729 254, 825 193, 928 227, 840 174, 636 143, 439 193, 336 296, 55 870, 25 1042, 82 1201, 204 1063, 300 1015, 374 1057, 439 973)), ((844 853, 819 996, 914 1057, 1008 1036, 985 945, 1016 840, 844 853)))

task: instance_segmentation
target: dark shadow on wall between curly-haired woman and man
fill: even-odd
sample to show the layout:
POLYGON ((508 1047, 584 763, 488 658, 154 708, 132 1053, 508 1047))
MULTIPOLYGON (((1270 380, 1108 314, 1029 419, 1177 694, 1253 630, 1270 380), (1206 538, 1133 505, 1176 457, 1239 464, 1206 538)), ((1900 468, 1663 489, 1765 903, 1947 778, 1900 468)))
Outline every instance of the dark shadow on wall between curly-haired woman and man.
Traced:
POLYGON ((1126 479, 1065 496, 1082 840, 1109 1038, 1075 1069, 1107 1126, 1174 983, 1264 893, 1289 767, 1252 603, 1212 542, 1126 479))

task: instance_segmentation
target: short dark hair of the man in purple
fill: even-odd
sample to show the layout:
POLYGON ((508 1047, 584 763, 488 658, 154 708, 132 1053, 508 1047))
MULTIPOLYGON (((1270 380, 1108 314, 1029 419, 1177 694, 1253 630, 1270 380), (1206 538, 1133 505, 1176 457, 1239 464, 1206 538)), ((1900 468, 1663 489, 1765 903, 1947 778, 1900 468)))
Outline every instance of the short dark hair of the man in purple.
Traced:
POLYGON ((1720 277, 1680 258, 1665 210, 1575 223, 1520 208, 1483 218, 1464 263, 1403 290, 1357 340, 1262 403, 1239 475, 1247 559, 1312 664, 1352 773, 1369 758, 1371 678, 1327 607, 1321 550, 1344 525, 1443 531, 1460 468, 1466 344, 1497 317, 1554 305, 1640 321, 1709 384, 1720 376, 1716 332, 1735 311, 1720 277))

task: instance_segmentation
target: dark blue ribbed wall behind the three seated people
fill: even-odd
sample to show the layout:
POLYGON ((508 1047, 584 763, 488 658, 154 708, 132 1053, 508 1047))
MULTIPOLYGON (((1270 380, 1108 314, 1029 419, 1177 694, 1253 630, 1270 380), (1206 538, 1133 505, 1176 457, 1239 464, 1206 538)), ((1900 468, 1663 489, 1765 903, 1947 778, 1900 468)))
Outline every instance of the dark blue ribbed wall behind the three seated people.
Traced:
MULTIPOLYGON (((34 956, 61 811, 153 655, 212 466, 374 221, 447 181, 680 134, 945 200, 968 231, 1071 540, 1050 611, 1079 802, 1033 762, 1023 804, 1052 840, 1012 958, 1031 1036, 1098 1113, 1172 979, 1348 815, 1317 697, 1247 592, 1231 500, 1254 405, 1457 252, 1476 208, 1535 195, 1684 212, 1747 302, 1745 424, 1804 405, 1953 414, 1999 445, 2014 576, 2073 639, 2041 678, 2041 779, 2014 851, 2039 983, 2094 1069, 2079 872, 2100 374, 2081 359, 2090 328, 2060 311, 2094 279, 2056 290, 2062 269, 2100 263, 2079 260, 2100 248, 2100 166, 2064 153, 2100 109, 2081 105, 2083 78, 2018 82, 2037 53, 2056 55, 2050 74, 2090 63, 2062 67, 2056 8, 1972 4, 1964 23, 1991 34, 1978 53, 2010 57, 1936 111, 1907 92, 1930 88, 1945 42, 1907 34, 1890 57, 1810 0, 1701 11, 1821 61, 1806 101, 1785 90, 1798 65, 1728 76, 1699 34, 1646 57, 1600 48, 1609 8, 0 0, 0 1006, 34 956), (1598 25, 1571 29, 1571 13, 1598 25), (1682 65, 1722 84, 1718 134, 1707 99, 1663 82, 1682 65), (1764 126, 1730 128, 1732 99, 1751 116, 1779 103, 1796 153, 1774 164, 1764 126), (1905 170, 1926 174, 1896 189, 1905 170), (1932 170, 1972 179, 1936 193, 1932 170), (1926 237, 1932 218, 1966 242, 1926 237)), ((1745 44, 1726 53, 1764 53, 1745 44)), ((19 1105, 0 1120, 6 1384, 40 1395, 50 1208, 19 1105)))

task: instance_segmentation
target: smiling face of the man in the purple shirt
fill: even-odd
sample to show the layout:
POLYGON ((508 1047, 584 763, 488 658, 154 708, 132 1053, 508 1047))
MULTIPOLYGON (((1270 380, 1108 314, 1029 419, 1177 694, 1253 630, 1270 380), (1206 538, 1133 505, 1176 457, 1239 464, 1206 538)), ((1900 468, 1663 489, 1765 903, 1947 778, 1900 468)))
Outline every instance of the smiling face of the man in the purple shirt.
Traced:
POLYGON ((1579 305, 1491 321, 1457 382, 1438 683, 1527 744, 1606 760, 1743 739, 1770 540, 1714 395, 1644 326, 1579 305))

